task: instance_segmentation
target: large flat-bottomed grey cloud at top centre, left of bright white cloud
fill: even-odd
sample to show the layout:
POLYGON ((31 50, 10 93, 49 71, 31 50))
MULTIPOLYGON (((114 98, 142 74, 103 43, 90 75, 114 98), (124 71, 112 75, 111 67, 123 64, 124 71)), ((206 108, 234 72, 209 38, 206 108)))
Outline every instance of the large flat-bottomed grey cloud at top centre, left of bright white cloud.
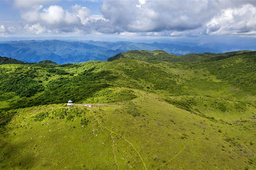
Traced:
POLYGON ((116 27, 116 31, 129 32, 194 29, 202 26, 209 15, 214 15, 214 11, 210 10, 208 1, 201 0, 161 0, 143 1, 143 3, 138 1, 104 1, 101 12, 116 27))

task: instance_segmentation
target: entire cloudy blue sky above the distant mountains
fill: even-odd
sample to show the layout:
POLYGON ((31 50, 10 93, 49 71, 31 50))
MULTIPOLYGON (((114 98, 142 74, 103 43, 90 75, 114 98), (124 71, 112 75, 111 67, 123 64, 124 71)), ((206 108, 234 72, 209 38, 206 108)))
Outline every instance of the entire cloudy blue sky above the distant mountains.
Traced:
POLYGON ((256 0, 1 0, 0 37, 255 39, 256 0))

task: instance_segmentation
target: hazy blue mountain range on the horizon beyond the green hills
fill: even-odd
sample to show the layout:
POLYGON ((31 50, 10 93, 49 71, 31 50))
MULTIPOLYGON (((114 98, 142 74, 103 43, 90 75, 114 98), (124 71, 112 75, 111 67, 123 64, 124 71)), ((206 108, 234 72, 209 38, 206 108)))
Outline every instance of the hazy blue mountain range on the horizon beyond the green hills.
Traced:
POLYGON ((63 40, 21 40, 0 43, 0 55, 26 62, 52 60, 57 63, 107 60, 108 57, 129 50, 165 50, 175 55, 187 53, 221 52, 218 49, 192 46, 191 44, 144 43, 129 41, 63 41, 63 40))

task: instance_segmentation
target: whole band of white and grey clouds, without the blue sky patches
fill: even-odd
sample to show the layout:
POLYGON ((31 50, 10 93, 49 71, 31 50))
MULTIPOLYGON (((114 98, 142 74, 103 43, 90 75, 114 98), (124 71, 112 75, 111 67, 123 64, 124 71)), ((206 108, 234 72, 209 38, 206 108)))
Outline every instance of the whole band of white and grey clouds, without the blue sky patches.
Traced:
MULTIPOLYGON (((256 2, 249 0, 105 0, 100 15, 91 15, 88 7, 79 4, 65 9, 56 4, 44 7, 45 3, 51 1, 14 1, 24 30, 169 36, 256 33, 256 2)), ((0 25, 0 33, 10 30, 0 25)))

